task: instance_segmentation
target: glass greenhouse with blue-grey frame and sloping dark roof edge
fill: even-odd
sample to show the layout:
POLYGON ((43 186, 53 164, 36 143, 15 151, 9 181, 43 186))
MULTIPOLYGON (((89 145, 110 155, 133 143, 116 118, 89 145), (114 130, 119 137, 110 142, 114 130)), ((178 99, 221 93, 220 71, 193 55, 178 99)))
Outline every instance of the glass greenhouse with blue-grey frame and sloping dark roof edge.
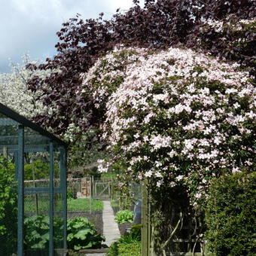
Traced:
POLYGON ((66 251, 66 143, 0 103, 0 254, 66 251))

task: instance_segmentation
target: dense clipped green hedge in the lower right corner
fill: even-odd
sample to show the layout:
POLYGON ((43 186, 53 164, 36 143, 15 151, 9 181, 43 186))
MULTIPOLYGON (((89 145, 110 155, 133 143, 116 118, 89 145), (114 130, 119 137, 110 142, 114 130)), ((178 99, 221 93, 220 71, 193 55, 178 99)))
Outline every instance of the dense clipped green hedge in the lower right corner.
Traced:
POLYGON ((217 256, 256 254, 256 172, 216 178, 206 206, 206 239, 217 256))

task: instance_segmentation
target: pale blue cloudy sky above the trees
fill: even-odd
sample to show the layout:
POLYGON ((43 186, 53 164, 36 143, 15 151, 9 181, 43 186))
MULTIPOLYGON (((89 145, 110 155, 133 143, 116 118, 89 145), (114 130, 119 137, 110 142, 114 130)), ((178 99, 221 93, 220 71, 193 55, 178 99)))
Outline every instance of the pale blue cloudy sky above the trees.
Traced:
POLYGON ((21 63, 26 53, 31 59, 53 56, 56 32, 75 14, 85 20, 104 12, 109 18, 132 5, 133 0, 0 0, 0 72, 9 72, 10 59, 21 63))

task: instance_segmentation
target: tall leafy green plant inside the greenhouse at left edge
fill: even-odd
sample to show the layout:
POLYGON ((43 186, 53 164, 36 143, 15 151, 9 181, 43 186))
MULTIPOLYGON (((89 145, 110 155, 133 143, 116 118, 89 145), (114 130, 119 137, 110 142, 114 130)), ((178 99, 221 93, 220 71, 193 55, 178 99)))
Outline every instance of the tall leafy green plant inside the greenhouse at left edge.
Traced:
POLYGON ((17 191, 14 189, 14 165, 0 157, 0 252, 14 252, 16 240, 17 191))

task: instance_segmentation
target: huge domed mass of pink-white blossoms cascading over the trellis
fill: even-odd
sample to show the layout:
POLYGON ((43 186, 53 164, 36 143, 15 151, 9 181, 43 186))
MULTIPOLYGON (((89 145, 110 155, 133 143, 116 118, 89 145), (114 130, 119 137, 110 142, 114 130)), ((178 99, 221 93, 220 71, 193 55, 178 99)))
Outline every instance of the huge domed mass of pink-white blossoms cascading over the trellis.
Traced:
POLYGON ((157 191, 185 187, 197 206, 212 177, 252 171, 255 90, 236 63, 172 47, 120 48, 88 81, 96 106, 107 102, 104 137, 126 160, 126 175, 149 178, 157 191))

